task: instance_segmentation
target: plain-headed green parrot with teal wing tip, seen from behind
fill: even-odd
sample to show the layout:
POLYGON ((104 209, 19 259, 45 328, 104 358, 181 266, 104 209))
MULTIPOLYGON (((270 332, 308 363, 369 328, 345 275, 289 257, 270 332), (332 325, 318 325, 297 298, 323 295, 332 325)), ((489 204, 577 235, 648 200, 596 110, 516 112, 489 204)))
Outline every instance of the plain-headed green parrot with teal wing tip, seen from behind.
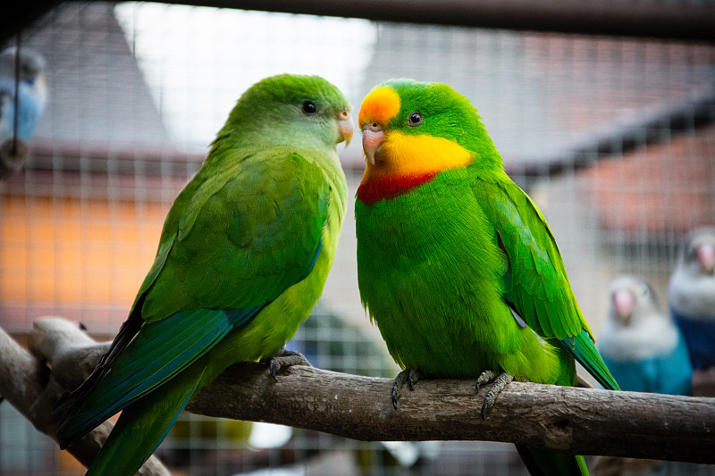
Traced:
POLYGON ((337 145, 348 100, 325 79, 279 75, 240 96, 174 201, 156 259, 109 351, 65 394, 67 447, 122 410, 88 474, 130 475, 198 390, 232 363, 274 355, 321 295, 345 214, 337 145))

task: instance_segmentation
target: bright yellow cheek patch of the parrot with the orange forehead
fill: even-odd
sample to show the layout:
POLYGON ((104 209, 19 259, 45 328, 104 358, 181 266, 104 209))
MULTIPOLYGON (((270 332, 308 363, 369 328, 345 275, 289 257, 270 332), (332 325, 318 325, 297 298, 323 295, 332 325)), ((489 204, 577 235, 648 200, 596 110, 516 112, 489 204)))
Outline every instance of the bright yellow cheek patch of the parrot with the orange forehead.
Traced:
POLYGON ((474 154, 446 138, 408 136, 397 131, 386 134, 374 165, 367 163, 363 183, 392 177, 417 177, 459 169, 472 163, 474 154))

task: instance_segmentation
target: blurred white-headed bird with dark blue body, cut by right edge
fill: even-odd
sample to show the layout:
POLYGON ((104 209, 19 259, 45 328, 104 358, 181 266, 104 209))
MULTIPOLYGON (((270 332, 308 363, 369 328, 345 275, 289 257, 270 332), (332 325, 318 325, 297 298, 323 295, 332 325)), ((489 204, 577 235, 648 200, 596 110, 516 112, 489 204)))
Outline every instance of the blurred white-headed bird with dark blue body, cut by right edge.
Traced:
POLYGON ((686 238, 670 277, 668 304, 694 370, 715 366, 715 228, 686 238))

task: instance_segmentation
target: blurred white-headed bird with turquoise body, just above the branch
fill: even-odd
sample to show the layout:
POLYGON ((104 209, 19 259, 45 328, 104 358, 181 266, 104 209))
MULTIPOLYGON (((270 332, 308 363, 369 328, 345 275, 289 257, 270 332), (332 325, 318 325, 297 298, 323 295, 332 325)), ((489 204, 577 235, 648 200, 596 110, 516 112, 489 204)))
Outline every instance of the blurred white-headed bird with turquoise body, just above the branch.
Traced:
POLYGON ((645 280, 610 284, 609 317, 599 336, 603 361, 624 390, 689 395, 693 368, 686 343, 645 280))

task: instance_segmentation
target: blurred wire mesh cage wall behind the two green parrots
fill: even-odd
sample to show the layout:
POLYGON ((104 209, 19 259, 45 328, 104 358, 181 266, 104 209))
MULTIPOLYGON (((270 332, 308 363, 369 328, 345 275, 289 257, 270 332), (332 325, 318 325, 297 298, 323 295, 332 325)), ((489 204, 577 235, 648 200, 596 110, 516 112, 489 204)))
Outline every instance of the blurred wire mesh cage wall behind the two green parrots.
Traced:
MULTIPOLYGON (((0 182, 0 325, 14 335, 61 315, 113 336, 235 100, 280 72, 324 76, 356 109, 395 77, 467 96, 550 222, 596 336, 610 280, 641 274, 665 296, 686 233, 715 223, 711 44, 68 2, 21 46, 44 56, 48 99, 29 162, 0 182)), ((350 197, 364 167, 356 143, 341 151, 350 197)), ((319 368, 391 377, 399 369, 360 304, 354 227, 349 216, 291 346, 319 368)), ((188 474, 526 474, 506 444, 366 443, 191 414, 159 455, 188 474)), ((0 405, 10 472, 81 469, 0 405)))

